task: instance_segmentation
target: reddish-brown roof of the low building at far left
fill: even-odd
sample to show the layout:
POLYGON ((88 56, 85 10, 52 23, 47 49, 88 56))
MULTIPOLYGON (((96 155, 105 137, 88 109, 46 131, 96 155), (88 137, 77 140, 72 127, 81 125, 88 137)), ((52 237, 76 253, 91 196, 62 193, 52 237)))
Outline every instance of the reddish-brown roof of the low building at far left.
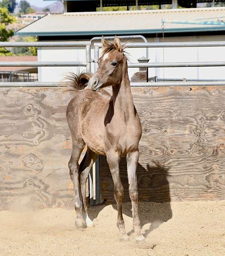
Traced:
MULTIPOLYGON (((37 61, 37 56, 0 56, 0 62, 13 61, 37 61)), ((30 73, 37 73, 36 67, 0 67, 0 71, 26 71, 30 73)))

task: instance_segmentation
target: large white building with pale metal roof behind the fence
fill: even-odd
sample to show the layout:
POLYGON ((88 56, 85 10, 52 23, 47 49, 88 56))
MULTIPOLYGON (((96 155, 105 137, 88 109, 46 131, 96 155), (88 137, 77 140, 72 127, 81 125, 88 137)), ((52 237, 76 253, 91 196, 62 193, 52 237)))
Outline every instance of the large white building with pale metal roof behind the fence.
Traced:
MULTIPOLYGON (((126 0, 124 0, 126 2, 126 0)), ((124 1, 103 1, 107 4, 124 1)), ((224 7, 187 8, 187 9, 158 9, 144 11, 117 12, 84 12, 96 9, 98 1, 65 1, 63 14, 50 14, 18 30, 19 36, 37 36, 38 41, 89 41, 101 35, 142 35, 148 42, 183 42, 183 41, 225 41, 225 25, 188 24, 186 21, 217 21, 225 19, 224 7), (78 5, 78 2, 80 5, 78 5), (92 2, 87 5, 87 2, 92 2), (95 2, 95 3, 94 3, 95 2), (81 5, 82 3, 82 5, 81 5), (76 9, 77 8, 77 9, 76 9), (165 23, 162 38, 162 19, 180 20, 184 24, 165 23)), ((131 3, 130 1, 129 3, 131 3)), ((142 1, 143 2, 143 1, 142 1)), ((150 1, 144 1, 147 3, 150 1)), ((153 1, 156 3, 157 1, 153 1)), ((160 2, 160 1, 158 1, 160 2)), ((181 6, 194 1, 164 1, 165 3, 180 3, 181 6)), ((198 1, 197 1, 198 2, 198 1)), ((197 3, 196 2, 196 3, 197 3)), ((204 2, 204 1, 201 1, 204 2)), ((99 6, 100 1, 98 2, 99 6)), ((135 5, 135 1, 133 1, 135 5)), ((177 4, 178 5, 178 4, 177 4)), ((193 6, 193 5, 190 5, 193 6)), ((141 39, 129 39, 141 42, 141 39)), ((95 41, 96 42, 96 41, 95 41)), ((145 56, 144 48, 127 49, 131 62, 145 56)), ((85 50, 77 47, 68 48, 38 48, 39 61, 82 61, 85 60, 85 50)), ((150 62, 196 62, 224 61, 224 47, 200 48, 149 48, 150 62)), ((93 48, 92 48, 93 57, 93 48)), ((78 72, 83 68, 72 67, 40 67, 39 81, 58 81, 65 72, 78 72)), ((131 77, 137 68, 129 69, 131 77)), ((150 68, 149 77, 159 78, 190 78, 190 79, 223 79, 224 67, 216 68, 150 68), (211 72, 208 72, 210 69, 211 72)))

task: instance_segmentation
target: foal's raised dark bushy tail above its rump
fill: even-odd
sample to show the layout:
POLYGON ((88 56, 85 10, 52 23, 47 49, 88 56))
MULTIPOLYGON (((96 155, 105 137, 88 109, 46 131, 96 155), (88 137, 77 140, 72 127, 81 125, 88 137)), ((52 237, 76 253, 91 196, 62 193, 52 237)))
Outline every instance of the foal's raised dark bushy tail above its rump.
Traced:
POLYGON ((78 90, 83 90, 87 87, 89 79, 92 77, 92 73, 81 72, 75 74, 69 72, 68 75, 64 78, 61 85, 66 85, 65 92, 77 92, 78 90))

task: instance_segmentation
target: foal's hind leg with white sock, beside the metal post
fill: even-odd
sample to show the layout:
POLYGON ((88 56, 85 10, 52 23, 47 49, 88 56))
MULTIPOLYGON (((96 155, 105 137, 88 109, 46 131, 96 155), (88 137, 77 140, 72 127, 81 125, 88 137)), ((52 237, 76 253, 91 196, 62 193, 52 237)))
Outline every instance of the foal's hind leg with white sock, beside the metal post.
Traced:
POLYGON ((87 205, 86 205, 86 184, 87 184, 87 178, 89 176, 90 170, 93 166, 93 164, 96 161, 97 154, 87 148, 86 154, 81 161, 80 164, 80 182, 81 182, 81 192, 83 197, 83 203, 84 203, 84 209, 83 209, 83 217, 84 221, 86 221, 87 227, 93 227, 93 222, 90 220, 90 218, 87 215, 87 205))

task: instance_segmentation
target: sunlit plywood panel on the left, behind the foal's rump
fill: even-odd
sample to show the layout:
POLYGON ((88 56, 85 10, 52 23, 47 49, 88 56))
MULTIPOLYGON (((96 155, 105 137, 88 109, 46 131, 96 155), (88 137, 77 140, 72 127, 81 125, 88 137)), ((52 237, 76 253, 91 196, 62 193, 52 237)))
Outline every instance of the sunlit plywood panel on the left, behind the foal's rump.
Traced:
POLYGON ((0 88, 0 210, 73 207, 62 88, 0 88))

